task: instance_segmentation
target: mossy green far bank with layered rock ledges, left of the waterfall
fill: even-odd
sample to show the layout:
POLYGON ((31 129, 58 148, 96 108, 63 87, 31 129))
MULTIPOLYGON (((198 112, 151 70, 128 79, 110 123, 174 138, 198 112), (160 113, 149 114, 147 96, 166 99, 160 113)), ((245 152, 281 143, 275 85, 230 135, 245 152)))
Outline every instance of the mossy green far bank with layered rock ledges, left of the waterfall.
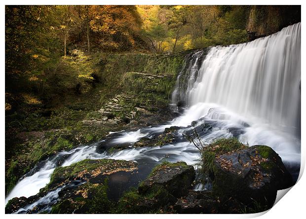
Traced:
MULTIPOLYGON (((59 151, 175 116, 169 101, 183 53, 72 54, 46 75, 40 96, 25 95, 22 104, 6 111, 6 195, 35 165, 59 151)), ((33 81, 33 89, 41 86, 33 81)))

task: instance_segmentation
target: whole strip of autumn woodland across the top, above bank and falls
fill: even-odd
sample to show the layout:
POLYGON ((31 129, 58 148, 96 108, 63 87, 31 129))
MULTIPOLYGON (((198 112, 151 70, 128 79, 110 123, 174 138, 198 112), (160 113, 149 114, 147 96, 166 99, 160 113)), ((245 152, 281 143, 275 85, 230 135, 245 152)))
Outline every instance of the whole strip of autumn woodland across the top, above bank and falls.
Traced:
MULTIPOLYGON (((271 34, 300 19, 299 6, 6 5, 6 99, 24 90, 42 93, 46 75, 75 49, 169 54, 247 42, 261 37, 258 30, 271 34)), ((91 73, 81 76, 92 79, 91 73)))

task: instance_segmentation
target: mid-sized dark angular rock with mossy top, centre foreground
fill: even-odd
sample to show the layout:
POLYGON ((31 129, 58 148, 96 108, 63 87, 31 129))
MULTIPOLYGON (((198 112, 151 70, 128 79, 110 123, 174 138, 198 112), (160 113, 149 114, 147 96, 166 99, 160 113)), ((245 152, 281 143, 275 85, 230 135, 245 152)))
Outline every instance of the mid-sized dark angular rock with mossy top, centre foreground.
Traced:
POLYGON ((148 194, 156 187, 163 187, 174 197, 180 198, 188 193, 193 179, 193 166, 185 162, 165 163, 154 168, 150 177, 139 185, 138 191, 148 194))

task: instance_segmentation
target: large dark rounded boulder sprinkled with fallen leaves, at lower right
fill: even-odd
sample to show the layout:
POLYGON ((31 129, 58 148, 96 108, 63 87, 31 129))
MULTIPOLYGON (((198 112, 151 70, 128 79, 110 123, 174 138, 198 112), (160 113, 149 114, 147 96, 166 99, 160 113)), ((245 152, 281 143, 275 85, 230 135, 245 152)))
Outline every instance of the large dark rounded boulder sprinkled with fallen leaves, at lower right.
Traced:
POLYGON ((292 177, 281 158, 268 146, 218 155, 213 170, 213 191, 244 204, 256 200, 263 206, 272 206, 277 190, 292 186, 292 177))

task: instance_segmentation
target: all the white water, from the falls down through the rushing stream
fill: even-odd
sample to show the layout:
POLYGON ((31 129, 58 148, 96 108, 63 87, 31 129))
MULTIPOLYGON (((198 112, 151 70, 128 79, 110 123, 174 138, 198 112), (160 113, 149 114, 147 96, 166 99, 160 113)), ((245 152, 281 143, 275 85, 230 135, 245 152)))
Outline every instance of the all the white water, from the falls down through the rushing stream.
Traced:
MULTIPOLYGON (((159 126, 112 133, 108 139, 96 144, 59 152, 20 179, 5 203, 13 197, 37 194, 50 181, 50 174, 57 166, 69 166, 83 159, 111 158, 151 164, 166 159, 195 164, 199 158, 198 150, 183 135, 203 123, 212 127, 200 133, 205 143, 234 136, 249 145, 271 146, 297 179, 301 159, 300 84, 301 23, 252 42, 212 47, 208 52, 191 52, 172 95, 174 104, 186 102, 188 108, 182 115, 159 126), (140 138, 153 138, 171 126, 180 127, 175 143, 132 147, 140 138), (99 149, 101 144, 130 147, 108 153, 99 149)), ((50 210, 47 203, 56 203, 59 189, 62 187, 18 213, 31 210, 35 204, 50 210)))

